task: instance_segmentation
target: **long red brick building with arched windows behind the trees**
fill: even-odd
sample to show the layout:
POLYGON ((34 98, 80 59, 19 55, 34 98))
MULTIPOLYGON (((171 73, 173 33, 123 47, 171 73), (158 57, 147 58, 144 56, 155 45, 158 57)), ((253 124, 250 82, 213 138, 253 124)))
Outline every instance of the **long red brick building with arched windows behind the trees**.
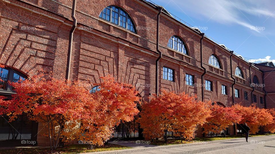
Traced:
MULTIPOLYGON (((32 76, 41 68, 52 71, 56 78, 65 78, 73 25, 71 6, 72 0, 0 1, 0 63, 6 66, 7 80, 32 76)), ((159 92, 197 94, 199 100, 224 106, 232 106, 234 101, 244 106, 275 107, 273 63, 249 63, 144 0, 77 0, 70 79, 99 83, 100 76, 112 74, 118 82, 136 86, 148 100, 156 91, 158 13, 162 52, 157 72, 159 92), (202 88, 202 83, 206 87, 202 88)), ((0 90, 7 97, 12 93, 8 85, 0 90)), ((2 140, 10 139, 9 127, 7 123, 0 126, 2 140)), ((37 139, 38 145, 46 145, 42 127, 33 123, 21 133, 28 134, 26 139, 37 139)), ((231 128, 229 133, 233 132, 231 128)))

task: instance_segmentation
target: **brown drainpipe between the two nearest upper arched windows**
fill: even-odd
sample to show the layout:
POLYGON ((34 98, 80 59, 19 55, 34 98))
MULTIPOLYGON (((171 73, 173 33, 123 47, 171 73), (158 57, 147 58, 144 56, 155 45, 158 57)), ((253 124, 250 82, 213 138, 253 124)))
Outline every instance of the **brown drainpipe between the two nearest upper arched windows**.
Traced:
POLYGON ((159 30, 160 30, 160 14, 162 13, 162 7, 158 7, 157 15, 157 52, 159 53, 158 59, 156 60, 156 94, 158 96, 158 61, 162 57, 162 52, 159 50, 159 30))

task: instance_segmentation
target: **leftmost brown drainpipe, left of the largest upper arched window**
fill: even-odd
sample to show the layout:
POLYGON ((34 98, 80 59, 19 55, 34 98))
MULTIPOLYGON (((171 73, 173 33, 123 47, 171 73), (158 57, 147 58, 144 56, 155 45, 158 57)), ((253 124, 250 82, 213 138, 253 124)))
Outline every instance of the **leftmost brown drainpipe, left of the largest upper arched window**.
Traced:
POLYGON ((69 80, 70 78, 70 66, 71 66, 71 56, 72 56, 72 39, 74 35, 74 30, 76 29, 76 24, 77 20, 74 17, 75 15, 75 5, 76 5, 76 0, 72 1, 72 19, 74 21, 71 31, 70 31, 70 36, 69 36, 69 48, 68 48, 68 57, 67 57, 67 68, 66 68, 66 80, 69 80))

